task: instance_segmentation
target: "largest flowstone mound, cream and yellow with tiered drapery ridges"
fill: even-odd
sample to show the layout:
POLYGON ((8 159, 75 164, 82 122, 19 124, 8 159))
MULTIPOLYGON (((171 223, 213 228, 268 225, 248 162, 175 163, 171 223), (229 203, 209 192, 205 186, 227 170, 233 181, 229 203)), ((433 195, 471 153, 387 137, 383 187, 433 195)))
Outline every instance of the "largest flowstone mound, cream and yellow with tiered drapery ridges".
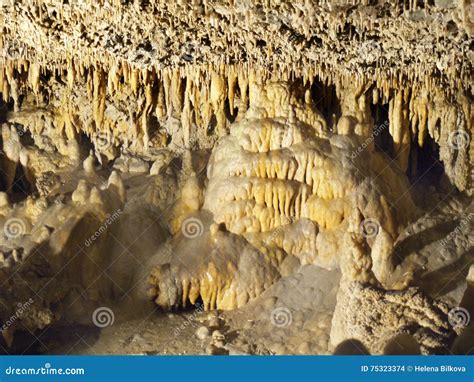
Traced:
POLYGON ((416 210, 408 182, 391 171, 372 181, 372 169, 388 167, 384 158, 370 153, 372 169, 364 166, 367 153, 352 160, 358 141, 328 139, 321 115, 298 103, 283 84, 253 93, 257 105, 232 125, 210 158, 204 208, 257 248, 296 256, 301 264, 336 266, 337 254, 349 248, 344 233, 355 232, 360 246, 372 247, 372 270, 384 283, 397 225, 416 210), (266 94, 276 102, 289 99, 292 113, 266 94), (395 201, 408 213, 397 215, 395 201), (369 221, 377 232, 364 238, 361 226, 369 221))

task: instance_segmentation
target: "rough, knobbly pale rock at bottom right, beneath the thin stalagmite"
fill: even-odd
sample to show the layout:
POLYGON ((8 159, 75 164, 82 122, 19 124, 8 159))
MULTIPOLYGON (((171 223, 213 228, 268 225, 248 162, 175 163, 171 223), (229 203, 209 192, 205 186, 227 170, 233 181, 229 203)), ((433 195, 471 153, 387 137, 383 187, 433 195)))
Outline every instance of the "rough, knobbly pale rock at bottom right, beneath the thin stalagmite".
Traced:
POLYGON ((355 339, 371 354, 382 354, 386 343, 411 334, 423 354, 447 354, 454 339, 447 305, 414 288, 385 291, 360 283, 342 283, 331 328, 331 344, 355 339))

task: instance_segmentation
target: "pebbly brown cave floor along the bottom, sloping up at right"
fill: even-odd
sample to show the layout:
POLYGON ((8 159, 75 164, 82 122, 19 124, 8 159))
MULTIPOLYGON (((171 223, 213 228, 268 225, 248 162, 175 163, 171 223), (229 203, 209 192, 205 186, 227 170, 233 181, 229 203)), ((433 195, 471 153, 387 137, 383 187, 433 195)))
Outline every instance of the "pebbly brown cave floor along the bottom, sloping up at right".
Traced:
POLYGON ((186 311, 116 321, 104 328, 60 322, 33 335, 19 335, 10 352, 68 355, 328 354, 339 271, 301 267, 248 306, 186 311), (319 282, 316 284, 315 280, 319 282), (318 285, 316 288, 314 285, 318 285), (16 347, 16 349, 15 349, 16 347))

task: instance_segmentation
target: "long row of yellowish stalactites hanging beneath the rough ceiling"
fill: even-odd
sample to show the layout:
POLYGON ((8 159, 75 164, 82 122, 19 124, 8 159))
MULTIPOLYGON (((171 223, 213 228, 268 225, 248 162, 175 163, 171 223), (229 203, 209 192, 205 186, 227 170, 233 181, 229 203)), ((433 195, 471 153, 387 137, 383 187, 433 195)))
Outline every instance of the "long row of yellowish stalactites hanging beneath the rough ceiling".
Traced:
POLYGON ((249 65, 157 70, 126 62, 110 67, 71 62, 51 69, 25 59, 0 65, 2 98, 12 105, 9 122, 36 135, 51 134, 53 129, 66 141, 85 133, 108 159, 116 157, 118 147, 146 152, 171 140, 178 142, 173 147, 209 148, 213 136, 227 134, 230 123, 258 102, 252 85, 276 80, 298 84, 306 91, 307 102, 316 105, 315 97, 336 98, 333 107, 341 115, 334 112, 327 123, 338 134, 373 137, 380 126, 370 106, 385 107, 393 158, 403 171, 411 170, 411 148, 423 147, 430 137, 440 146, 440 159, 452 182, 472 193, 474 113, 470 96, 459 89, 450 96, 430 83, 421 87, 396 78, 369 81, 312 70, 297 77, 290 69, 269 73, 249 65), (317 95, 311 93, 315 84, 321 89, 317 95), (170 121, 178 124, 177 130, 167 128, 170 121))

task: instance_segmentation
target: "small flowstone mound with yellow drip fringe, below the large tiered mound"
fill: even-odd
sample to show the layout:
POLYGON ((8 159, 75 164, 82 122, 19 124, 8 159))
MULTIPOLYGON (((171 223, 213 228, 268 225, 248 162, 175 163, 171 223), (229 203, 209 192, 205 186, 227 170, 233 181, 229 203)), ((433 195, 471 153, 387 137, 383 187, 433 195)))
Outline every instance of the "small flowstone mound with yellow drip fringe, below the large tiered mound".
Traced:
MULTIPOLYGON (((239 236, 209 230, 202 216, 192 219, 184 221, 171 261, 154 266, 148 277, 148 294, 159 306, 185 307, 200 297, 206 310, 235 309, 278 279, 278 259, 262 254, 239 236), (190 224, 199 231, 191 231, 190 224)), ((166 254, 156 257, 153 262, 166 254)))

